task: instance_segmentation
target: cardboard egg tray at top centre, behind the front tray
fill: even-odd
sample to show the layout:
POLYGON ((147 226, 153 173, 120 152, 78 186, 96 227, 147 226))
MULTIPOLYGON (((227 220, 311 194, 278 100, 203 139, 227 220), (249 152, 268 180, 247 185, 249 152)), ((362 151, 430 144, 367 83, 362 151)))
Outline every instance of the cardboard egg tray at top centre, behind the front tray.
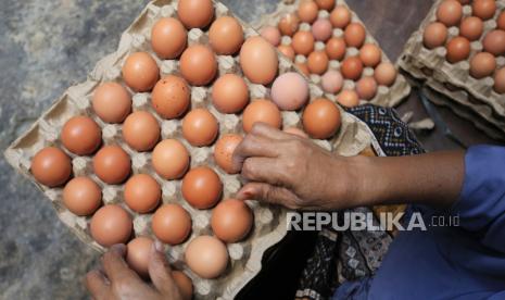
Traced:
MULTIPOLYGON (((275 27, 277 27, 277 24, 279 23, 279 21, 282 18, 283 15, 286 15, 287 13, 291 13, 291 12, 296 11, 296 9, 298 9, 301 1, 303 1, 303 0, 282 0, 282 1, 280 1, 279 4, 277 5, 276 11, 274 13, 262 16, 260 20, 252 23, 252 26, 257 30, 261 30, 261 28, 266 27, 266 26, 275 26, 275 27)), ((345 8, 348 8, 348 10, 352 14, 351 22, 359 23, 366 29, 365 24, 359 20, 357 14, 353 10, 351 10, 351 8, 345 3, 345 1, 336 0, 336 5, 344 5, 345 8)), ((328 11, 319 10, 318 18, 327 18, 328 16, 329 16, 328 11)), ((299 30, 311 32, 311 28, 312 28, 311 24, 301 23, 300 27, 299 27, 299 30)), ((336 28, 336 29, 333 29, 332 36, 333 37, 343 37, 343 30, 339 29, 339 28, 336 28)), ((291 37, 282 36, 281 45, 290 45, 290 43, 291 43, 291 37)), ((379 43, 370 35, 370 33, 368 33, 368 30, 366 30, 365 43, 374 43, 374 45, 378 46, 379 49, 380 49, 379 43)), ((325 49, 325 42, 323 42, 323 41, 316 41, 315 42, 314 50, 324 50, 324 49, 325 49)), ((382 62, 390 62, 389 58, 386 55, 386 53, 383 51, 381 51, 381 54, 382 54, 382 60, 381 60, 382 62)), ((359 55, 359 49, 356 49, 356 48, 353 48, 353 47, 348 47, 346 51, 345 51, 345 55, 344 55, 343 59, 349 58, 349 57, 355 57, 355 55, 359 55)), ((300 62, 300 63, 306 62, 306 60, 307 60, 306 57, 300 55, 300 54, 298 54, 295 57, 295 59, 294 59, 295 62, 300 62)), ((338 61, 338 60, 330 60, 329 65, 328 65, 328 70, 340 71, 340 63, 341 62, 338 61)), ((374 76, 374 68, 373 67, 364 67, 362 77, 363 76, 374 76)), ((313 83, 315 83, 316 85, 318 85, 320 87, 320 83, 321 83, 321 76, 320 75, 311 74, 308 77, 313 83)), ((356 82, 357 80, 344 79, 342 90, 343 89, 354 89, 355 86, 356 86, 356 82)), ((392 86, 387 87, 387 86, 378 85, 377 95, 370 100, 366 100, 366 101, 361 100, 361 103, 373 103, 373 104, 377 104, 377 105, 380 105, 380 107, 391 107, 392 108, 392 107, 395 107, 395 105, 400 104, 409 93, 411 93, 411 86, 408 85, 408 82, 401 74, 397 74, 396 80, 394 82, 394 84, 392 86)), ((338 97, 338 95, 339 93, 333 95, 333 93, 326 92, 325 97, 328 98, 328 99, 334 100, 338 97)))

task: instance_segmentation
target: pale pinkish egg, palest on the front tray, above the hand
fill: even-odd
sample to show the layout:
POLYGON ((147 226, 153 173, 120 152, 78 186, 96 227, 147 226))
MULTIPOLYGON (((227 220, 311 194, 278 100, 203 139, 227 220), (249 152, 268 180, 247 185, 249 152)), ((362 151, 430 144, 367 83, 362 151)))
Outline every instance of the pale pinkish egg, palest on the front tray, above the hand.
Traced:
POLYGON ((279 109, 295 111, 308 100, 308 84, 298 73, 285 73, 275 79, 270 95, 272 100, 279 109))

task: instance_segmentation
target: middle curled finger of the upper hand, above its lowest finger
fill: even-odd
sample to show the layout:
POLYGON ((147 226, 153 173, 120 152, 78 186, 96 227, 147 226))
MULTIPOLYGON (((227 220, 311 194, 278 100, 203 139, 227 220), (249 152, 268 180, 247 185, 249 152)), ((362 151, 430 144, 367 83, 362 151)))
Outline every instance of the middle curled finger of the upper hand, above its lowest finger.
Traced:
POLYGON ((276 159, 248 158, 242 164, 241 175, 249 182, 260 182, 275 186, 288 184, 281 168, 276 164, 276 159))

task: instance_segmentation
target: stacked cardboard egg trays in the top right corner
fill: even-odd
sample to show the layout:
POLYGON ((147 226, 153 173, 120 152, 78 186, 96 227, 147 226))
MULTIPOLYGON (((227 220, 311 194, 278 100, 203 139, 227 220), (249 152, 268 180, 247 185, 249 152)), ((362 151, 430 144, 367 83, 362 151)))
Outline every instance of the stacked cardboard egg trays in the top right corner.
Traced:
MULTIPOLYGON (((492 76, 477 79, 469 72, 471 58, 483 49, 483 38, 490 30, 496 28, 495 17, 505 10, 505 1, 495 1, 495 16, 484 21, 481 37, 470 43, 468 60, 454 64, 446 61, 445 47, 428 49, 422 40, 426 27, 437 21, 437 10, 442 1, 435 1, 419 29, 408 39, 399 65, 412 76, 414 84, 424 87, 424 93, 430 101, 451 108, 488 136, 505 140, 505 95, 497 93, 493 89, 492 76)), ((471 14, 470 2, 463 7, 462 20, 471 14)), ((458 34, 458 25, 450 27, 446 40, 451 40, 458 34)), ((505 57, 498 55, 496 57, 496 70, 502 67, 505 67, 505 57)))

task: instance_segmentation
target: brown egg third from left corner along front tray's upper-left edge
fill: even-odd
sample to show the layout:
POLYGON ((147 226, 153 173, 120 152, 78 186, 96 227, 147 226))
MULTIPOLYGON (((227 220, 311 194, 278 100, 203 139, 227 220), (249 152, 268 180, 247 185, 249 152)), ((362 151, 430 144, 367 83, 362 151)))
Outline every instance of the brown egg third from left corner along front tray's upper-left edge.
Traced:
POLYGON ((94 113, 106 123, 122 123, 131 111, 131 98, 117 83, 101 84, 93 93, 94 113))

